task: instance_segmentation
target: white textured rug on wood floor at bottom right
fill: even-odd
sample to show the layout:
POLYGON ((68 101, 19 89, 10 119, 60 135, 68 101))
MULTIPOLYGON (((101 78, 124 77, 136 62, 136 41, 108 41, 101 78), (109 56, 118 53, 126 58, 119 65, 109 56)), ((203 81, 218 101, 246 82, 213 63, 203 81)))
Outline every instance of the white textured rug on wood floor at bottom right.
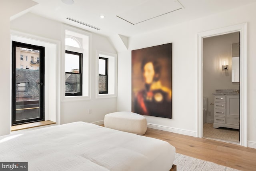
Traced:
POLYGON ((175 154, 173 164, 177 165, 177 171, 238 171, 230 167, 218 165, 210 161, 196 159, 179 153, 175 154))

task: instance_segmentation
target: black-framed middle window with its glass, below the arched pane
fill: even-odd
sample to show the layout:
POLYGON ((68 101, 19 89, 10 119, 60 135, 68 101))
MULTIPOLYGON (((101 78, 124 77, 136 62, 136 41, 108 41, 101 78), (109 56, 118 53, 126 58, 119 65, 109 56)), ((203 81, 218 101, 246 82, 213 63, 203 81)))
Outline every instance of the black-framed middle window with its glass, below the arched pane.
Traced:
POLYGON ((82 95, 82 54, 66 50, 65 95, 82 95))

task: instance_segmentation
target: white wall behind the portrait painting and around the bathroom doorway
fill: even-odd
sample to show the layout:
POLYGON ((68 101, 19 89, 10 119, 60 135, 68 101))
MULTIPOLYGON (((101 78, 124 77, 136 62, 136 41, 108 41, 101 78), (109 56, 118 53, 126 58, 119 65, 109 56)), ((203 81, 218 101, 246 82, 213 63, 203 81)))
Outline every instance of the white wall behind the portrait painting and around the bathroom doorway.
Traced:
POLYGON ((172 42, 173 119, 146 118, 152 127, 196 136, 197 34, 248 22, 248 145, 256 148, 255 8, 256 3, 130 38, 128 52, 118 54, 118 111, 131 111, 131 50, 172 42))

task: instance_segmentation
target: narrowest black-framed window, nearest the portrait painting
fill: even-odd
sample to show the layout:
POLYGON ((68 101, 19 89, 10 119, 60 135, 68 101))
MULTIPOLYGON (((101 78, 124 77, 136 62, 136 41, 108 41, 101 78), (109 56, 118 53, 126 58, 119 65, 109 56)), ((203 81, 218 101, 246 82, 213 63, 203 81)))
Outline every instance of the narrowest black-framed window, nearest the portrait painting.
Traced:
POLYGON ((108 93, 108 58, 99 57, 99 94, 108 93))

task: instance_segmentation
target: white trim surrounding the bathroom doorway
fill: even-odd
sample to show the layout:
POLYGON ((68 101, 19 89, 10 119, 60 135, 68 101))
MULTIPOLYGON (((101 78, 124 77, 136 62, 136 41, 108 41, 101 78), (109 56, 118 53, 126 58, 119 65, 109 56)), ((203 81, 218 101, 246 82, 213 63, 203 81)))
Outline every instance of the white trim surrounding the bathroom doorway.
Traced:
POLYGON ((200 32, 197 34, 198 119, 197 137, 203 134, 203 38, 240 32, 240 145, 247 147, 247 23, 200 32))

